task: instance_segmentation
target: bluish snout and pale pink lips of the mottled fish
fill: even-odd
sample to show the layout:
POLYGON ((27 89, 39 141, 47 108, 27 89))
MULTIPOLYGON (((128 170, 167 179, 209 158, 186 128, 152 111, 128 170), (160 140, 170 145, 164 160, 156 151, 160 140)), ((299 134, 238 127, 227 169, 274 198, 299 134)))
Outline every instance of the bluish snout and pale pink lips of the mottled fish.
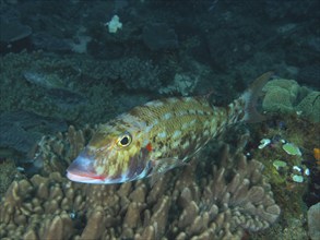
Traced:
POLYGON ((102 183, 105 176, 94 169, 94 158, 84 149, 67 169, 67 178, 75 182, 102 183))

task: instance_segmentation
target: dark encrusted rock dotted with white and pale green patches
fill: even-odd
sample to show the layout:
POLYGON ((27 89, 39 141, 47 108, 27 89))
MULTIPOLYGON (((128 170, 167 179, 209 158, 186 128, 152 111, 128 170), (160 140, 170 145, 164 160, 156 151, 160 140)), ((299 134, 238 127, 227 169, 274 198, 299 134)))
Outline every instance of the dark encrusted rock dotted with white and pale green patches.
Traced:
MULTIPOLYGON (((264 176, 272 185, 276 203, 282 209, 281 225, 273 229, 268 239, 308 239, 306 229, 306 204, 318 202, 319 170, 313 156, 313 148, 319 145, 319 123, 311 122, 303 115, 271 116, 260 125, 256 140, 248 145, 250 155, 265 166, 264 176), (270 139, 271 143, 263 149, 258 148, 260 139, 270 139), (283 151, 284 143, 294 143, 301 156, 289 155, 283 151), (253 147, 252 147, 253 146, 253 147), (286 167, 274 167, 275 160, 282 160, 286 167), (294 176, 304 178, 295 182, 294 176), (289 203, 289 204, 288 204, 289 203)), ((297 177, 295 177, 297 178, 297 177)), ((258 233, 259 236, 259 233, 258 233)), ((257 239, 261 239, 260 238, 257 239)))

